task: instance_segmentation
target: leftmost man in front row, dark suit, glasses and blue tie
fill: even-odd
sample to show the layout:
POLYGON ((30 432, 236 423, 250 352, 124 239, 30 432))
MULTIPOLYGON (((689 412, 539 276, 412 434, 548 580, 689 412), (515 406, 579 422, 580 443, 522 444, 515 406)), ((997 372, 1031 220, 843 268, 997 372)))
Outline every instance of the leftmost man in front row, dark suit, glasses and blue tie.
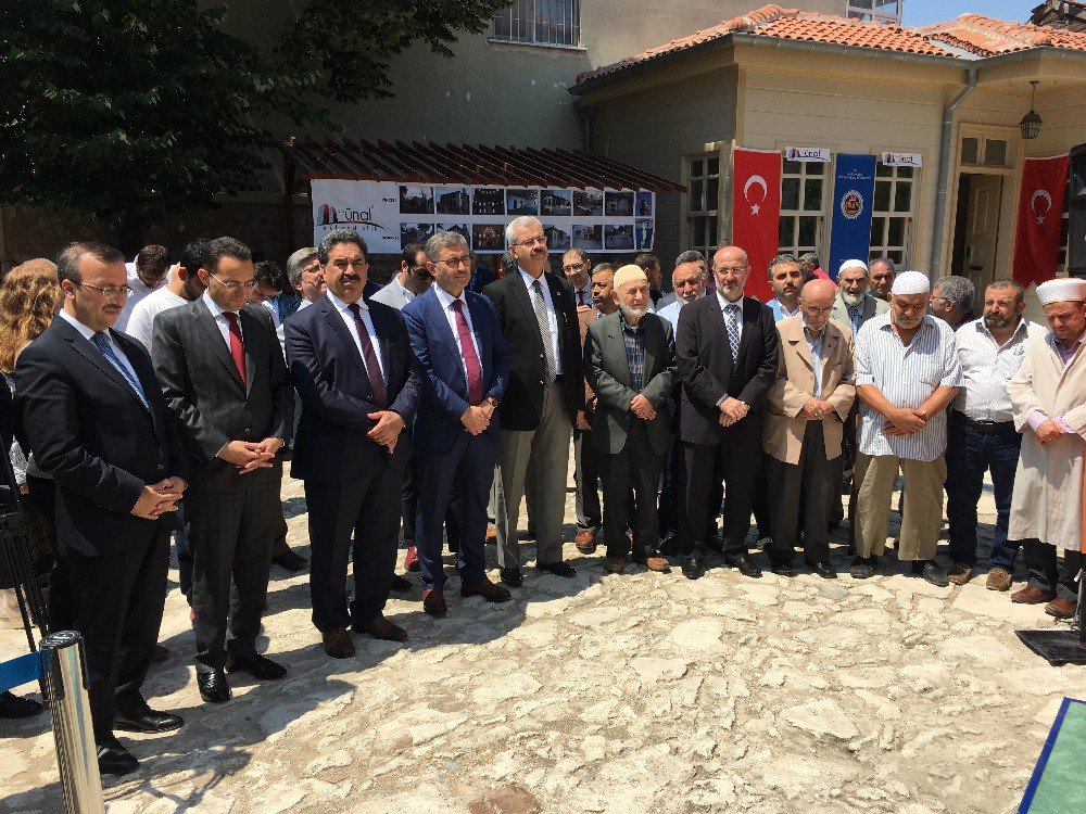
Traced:
POLYGON ((17 406, 35 460, 56 482, 56 542, 84 636, 98 764, 139 764, 113 729, 167 732, 140 691, 166 598, 169 532, 188 466, 142 345, 111 326, 128 288, 123 255, 73 243, 58 258, 63 306, 18 357, 17 406))

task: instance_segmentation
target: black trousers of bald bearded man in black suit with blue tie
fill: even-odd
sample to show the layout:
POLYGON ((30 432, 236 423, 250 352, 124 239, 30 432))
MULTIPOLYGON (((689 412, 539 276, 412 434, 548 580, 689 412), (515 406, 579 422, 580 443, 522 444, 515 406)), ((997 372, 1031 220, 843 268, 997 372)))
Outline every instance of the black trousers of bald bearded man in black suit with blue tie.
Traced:
POLYGON ((761 471, 761 420, 748 416, 724 428, 717 444, 683 443, 686 463, 686 506, 680 517, 679 547, 683 555, 705 551, 706 518, 716 518, 710 506, 715 487, 724 483, 721 543, 729 557, 747 552, 754 483, 761 471))

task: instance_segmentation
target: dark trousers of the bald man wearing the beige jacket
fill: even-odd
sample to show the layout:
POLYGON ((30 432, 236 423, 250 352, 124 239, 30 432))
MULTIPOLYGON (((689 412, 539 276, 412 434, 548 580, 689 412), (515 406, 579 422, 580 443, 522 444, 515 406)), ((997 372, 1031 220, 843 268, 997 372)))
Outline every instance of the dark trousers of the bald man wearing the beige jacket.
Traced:
POLYGON ((804 559, 830 559, 830 498, 841 492, 842 456, 825 457, 821 421, 808 421, 798 463, 785 463, 767 455, 766 480, 772 507, 773 544, 769 558, 788 562, 804 533, 804 559))

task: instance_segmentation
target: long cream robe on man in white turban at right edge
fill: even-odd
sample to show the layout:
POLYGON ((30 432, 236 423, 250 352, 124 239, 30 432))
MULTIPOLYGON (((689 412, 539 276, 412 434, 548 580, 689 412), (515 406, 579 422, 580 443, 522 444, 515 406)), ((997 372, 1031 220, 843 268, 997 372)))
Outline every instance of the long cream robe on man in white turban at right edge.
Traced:
POLYGON ((1036 538, 1077 551, 1083 517, 1083 438, 1086 438, 1086 344, 1064 367, 1052 334, 1031 339, 1022 367, 1007 382, 1014 407, 1014 425, 1022 433, 1022 453, 1014 474, 1011 539, 1036 538), (1072 433, 1041 446, 1030 428, 1040 410, 1062 417, 1072 433))

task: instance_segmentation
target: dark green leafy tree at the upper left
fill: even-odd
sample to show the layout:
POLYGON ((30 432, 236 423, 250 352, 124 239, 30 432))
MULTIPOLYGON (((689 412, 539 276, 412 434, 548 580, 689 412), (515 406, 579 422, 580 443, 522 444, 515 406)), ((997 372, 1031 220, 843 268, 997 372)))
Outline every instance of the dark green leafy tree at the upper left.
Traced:
POLYGON ((138 247, 163 212, 254 188, 268 122, 323 125, 327 100, 389 96, 392 55, 450 55, 507 4, 313 0, 265 49, 198 0, 3 0, 0 203, 75 209, 138 247))

